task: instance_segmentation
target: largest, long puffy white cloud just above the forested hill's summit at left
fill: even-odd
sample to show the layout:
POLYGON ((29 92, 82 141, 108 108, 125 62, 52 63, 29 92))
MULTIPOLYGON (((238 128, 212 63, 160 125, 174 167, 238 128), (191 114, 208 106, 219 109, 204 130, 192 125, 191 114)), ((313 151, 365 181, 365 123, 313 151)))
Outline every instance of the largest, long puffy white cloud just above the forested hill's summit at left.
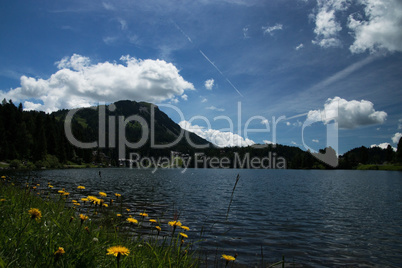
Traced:
POLYGON ((22 76, 21 86, 0 91, 0 98, 23 102, 27 109, 51 112, 121 99, 162 102, 194 90, 171 63, 128 55, 120 60, 123 64, 93 64, 89 58, 74 54, 57 62, 59 70, 49 79, 22 76))

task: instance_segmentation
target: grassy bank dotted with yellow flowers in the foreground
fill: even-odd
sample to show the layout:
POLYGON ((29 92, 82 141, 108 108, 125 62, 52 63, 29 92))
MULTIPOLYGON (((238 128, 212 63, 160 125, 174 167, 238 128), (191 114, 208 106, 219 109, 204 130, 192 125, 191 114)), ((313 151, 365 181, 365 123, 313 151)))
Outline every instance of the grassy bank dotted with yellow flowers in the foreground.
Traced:
POLYGON ((118 194, 60 187, 1 177, 0 267, 198 266, 179 221, 131 213, 118 194))

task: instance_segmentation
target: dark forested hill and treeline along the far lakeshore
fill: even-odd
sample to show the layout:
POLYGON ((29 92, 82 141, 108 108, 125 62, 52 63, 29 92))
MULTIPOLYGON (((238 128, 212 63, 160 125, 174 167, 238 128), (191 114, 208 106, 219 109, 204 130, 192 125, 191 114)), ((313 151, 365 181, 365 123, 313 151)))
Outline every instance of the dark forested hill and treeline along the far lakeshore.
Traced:
MULTIPOLYGON (((135 101, 119 101, 114 103, 115 109, 105 109, 108 118, 117 116, 140 115, 147 123, 151 123, 150 108, 153 104, 135 101)), ((98 139, 99 116, 95 108, 80 109, 72 119, 72 132, 77 140, 91 142, 98 139)), ((156 144, 166 144, 174 141, 181 131, 178 124, 173 122, 165 113, 157 107, 154 108, 155 128, 153 135, 156 144)), ((117 131, 117 120, 106 120, 105 143, 111 144, 110 137, 114 137, 115 146, 105 148, 82 149, 72 145, 66 138, 64 120, 68 110, 59 110, 53 113, 38 111, 24 111, 22 104, 16 106, 12 100, 3 100, 0 104, 0 167, 10 168, 63 168, 77 166, 121 166, 121 154, 116 146, 120 144, 120 137, 110 131, 117 131), (110 124, 115 124, 111 127, 110 124)), ((127 124, 125 129, 127 140, 135 142, 141 137, 141 128, 136 124, 127 124)), ((186 132, 186 131, 185 131, 186 132)), ((291 169, 332 169, 331 166, 317 160, 312 153, 301 150, 298 147, 286 145, 267 145, 263 148, 249 147, 216 147, 208 141, 189 132, 191 141, 195 144, 205 144, 206 148, 196 149, 182 138, 180 141, 165 149, 155 149, 147 141, 138 149, 124 148, 126 158, 132 152, 147 157, 170 157, 172 153, 179 157, 194 156, 202 153, 212 158, 227 158, 235 162, 235 157, 248 155, 253 157, 266 157, 271 153, 286 160, 286 168, 291 169)), ((321 153, 327 152, 336 156, 332 148, 324 148, 321 153)), ((378 169, 378 166, 395 165, 402 163, 402 143, 398 143, 395 152, 391 146, 386 149, 379 147, 354 148, 343 155, 338 156, 338 169, 356 169, 366 167, 378 169), (371 165, 371 166, 370 166, 371 165)), ((190 167, 195 163, 191 162, 190 167)), ((207 167, 210 165, 207 163, 207 167)), ((238 166, 233 166, 238 167, 238 166)))

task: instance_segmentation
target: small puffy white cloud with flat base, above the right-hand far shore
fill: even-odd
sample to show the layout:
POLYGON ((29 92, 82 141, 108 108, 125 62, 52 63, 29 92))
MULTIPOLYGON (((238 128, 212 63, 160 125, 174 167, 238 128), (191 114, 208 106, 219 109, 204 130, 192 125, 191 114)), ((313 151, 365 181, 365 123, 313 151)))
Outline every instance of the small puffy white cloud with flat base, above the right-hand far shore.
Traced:
POLYGON ((312 110, 307 115, 308 120, 322 121, 324 124, 336 119, 339 128, 343 129, 382 124, 386 118, 387 113, 374 110, 374 104, 370 101, 347 101, 340 97, 329 98, 324 104, 324 110, 312 110))

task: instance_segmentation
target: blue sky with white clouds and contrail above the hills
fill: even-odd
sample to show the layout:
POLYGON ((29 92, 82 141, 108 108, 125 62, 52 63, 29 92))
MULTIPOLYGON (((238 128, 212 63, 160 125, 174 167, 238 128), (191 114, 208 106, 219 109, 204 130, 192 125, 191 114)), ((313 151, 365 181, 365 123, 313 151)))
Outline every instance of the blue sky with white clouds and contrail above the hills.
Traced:
POLYGON ((0 98, 157 104, 219 146, 402 137, 402 1, 2 1, 0 98))

